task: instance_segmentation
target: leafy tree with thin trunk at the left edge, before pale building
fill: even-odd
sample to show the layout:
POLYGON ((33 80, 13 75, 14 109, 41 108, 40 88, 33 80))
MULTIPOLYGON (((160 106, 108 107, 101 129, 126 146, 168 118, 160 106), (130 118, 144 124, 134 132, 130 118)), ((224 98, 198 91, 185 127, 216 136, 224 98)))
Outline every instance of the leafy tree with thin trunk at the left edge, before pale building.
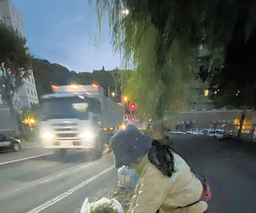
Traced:
POLYGON ((20 135, 14 108, 15 92, 22 85, 22 79, 29 76, 31 56, 26 38, 21 37, 12 26, 0 24, 0 95, 8 103, 15 135, 20 135))

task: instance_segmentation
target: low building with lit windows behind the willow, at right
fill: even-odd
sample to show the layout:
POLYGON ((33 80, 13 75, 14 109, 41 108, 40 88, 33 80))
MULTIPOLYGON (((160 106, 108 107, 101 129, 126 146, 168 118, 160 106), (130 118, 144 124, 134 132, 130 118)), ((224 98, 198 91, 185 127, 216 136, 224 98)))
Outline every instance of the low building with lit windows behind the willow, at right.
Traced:
MULTIPOLYGON (((199 57, 207 55, 207 48, 199 49, 199 57)), ((202 129, 238 130, 242 110, 227 107, 216 108, 209 98, 212 90, 207 83, 193 80, 190 85, 190 105, 182 112, 169 113, 165 118, 168 129, 187 131, 202 129)), ((242 133, 252 133, 256 125, 256 112, 247 110, 242 124, 242 133)), ((255 132, 256 133, 256 132, 255 132)))

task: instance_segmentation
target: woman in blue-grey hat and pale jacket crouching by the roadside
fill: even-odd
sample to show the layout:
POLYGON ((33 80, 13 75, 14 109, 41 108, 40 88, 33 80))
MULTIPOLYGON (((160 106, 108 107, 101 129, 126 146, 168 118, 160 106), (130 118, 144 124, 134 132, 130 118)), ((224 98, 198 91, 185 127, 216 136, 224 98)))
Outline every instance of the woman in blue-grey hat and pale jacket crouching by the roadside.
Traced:
POLYGON ((128 213, 205 212, 203 185, 183 158, 134 131, 119 131, 110 141, 115 166, 127 165, 139 176, 128 213))

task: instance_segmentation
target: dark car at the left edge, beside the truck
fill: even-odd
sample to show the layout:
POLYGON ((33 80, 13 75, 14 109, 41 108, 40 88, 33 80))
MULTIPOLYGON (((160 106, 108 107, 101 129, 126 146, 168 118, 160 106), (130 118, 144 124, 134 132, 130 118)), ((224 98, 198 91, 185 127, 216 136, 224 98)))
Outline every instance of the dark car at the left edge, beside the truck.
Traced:
POLYGON ((13 137, 6 137, 0 134, 0 150, 13 150, 14 152, 20 151, 20 140, 13 137))

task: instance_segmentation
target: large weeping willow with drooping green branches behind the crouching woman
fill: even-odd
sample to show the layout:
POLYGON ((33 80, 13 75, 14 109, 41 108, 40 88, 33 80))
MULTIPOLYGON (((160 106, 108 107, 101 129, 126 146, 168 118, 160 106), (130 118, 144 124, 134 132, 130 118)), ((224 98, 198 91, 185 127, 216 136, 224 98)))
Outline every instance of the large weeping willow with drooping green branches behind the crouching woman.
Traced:
MULTIPOLYGON (((126 92, 137 110, 154 121, 153 137, 172 103, 189 103, 189 82, 200 66, 223 65, 224 47, 236 22, 236 1, 216 0, 89 0, 96 6, 98 28, 104 21, 113 49, 125 66, 132 65, 126 92), (207 55, 199 58, 199 47, 207 55)), ((175 106, 179 106, 178 104, 175 106)))

